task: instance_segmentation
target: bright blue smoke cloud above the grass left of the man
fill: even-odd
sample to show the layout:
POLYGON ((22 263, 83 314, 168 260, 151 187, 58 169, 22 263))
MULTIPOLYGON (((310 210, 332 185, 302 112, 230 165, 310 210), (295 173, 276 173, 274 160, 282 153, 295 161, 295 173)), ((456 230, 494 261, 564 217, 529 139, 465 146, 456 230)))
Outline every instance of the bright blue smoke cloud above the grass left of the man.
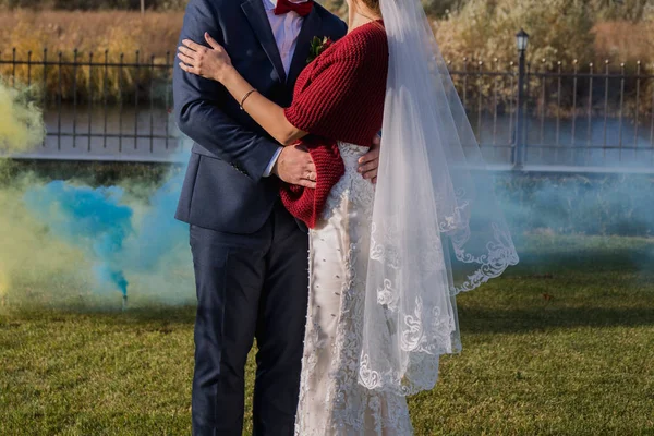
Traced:
POLYGON ((93 259, 98 289, 126 295, 130 274, 170 272, 161 270, 162 258, 187 241, 187 226, 174 219, 183 175, 178 172, 156 190, 140 216, 118 186, 55 181, 29 189, 24 202, 53 235, 93 259))

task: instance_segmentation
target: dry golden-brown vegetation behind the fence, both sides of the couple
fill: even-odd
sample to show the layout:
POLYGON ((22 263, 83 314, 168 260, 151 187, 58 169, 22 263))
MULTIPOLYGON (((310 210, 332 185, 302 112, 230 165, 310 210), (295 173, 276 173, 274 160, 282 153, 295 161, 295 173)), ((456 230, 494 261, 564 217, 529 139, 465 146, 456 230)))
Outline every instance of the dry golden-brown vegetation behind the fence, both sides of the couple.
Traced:
MULTIPOLYGON (((338 2, 332 5, 336 8, 338 2)), ((483 60, 484 69, 507 70, 509 62, 516 58, 512 27, 518 26, 518 23, 526 22, 528 27, 535 28, 530 45, 530 56, 538 69, 556 68, 556 61, 559 60, 564 62, 564 69, 569 70, 572 68, 573 59, 579 59, 580 65, 609 59, 615 65, 626 62, 628 73, 634 72, 637 60, 642 61, 642 71, 651 71, 651 62, 654 61, 652 21, 593 24, 592 20, 589 22, 580 12, 576 15, 577 21, 568 17, 568 22, 562 22, 556 13, 549 16, 536 14, 530 9, 520 12, 522 9, 524 8, 509 9, 493 17, 487 15, 483 2, 471 2, 461 13, 435 22, 437 38, 443 46, 445 57, 451 59, 453 66, 459 69, 462 59, 468 57, 471 62, 469 68, 477 68, 477 61, 483 60), (547 20, 552 23, 547 23, 547 20), (585 33, 576 35, 576 32, 585 33), (547 58, 546 64, 542 64, 542 58, 547 58), (494 62, 493 59, 498 61, 494 62)), ((10 61, 13 57, 12 50, 15 48, 17 60, 26 61, 28 53, 32 52, 31 61, 39 63, 45 56, 44 49, 47 48, 49 62, 57 63, 59 53, 63 63, 71 62, 75 59, 73 50, 77 49, 78 62, 88 63, 93 53, 94 62, 101 63, 107 56, 107 61, 110 63, 121 61, 133 63, 138 50, 140 62, 161 65, 167 60, 174 61, 174 49, 182 21, 181 11, 148 12, 144 16, 137 12, 126 11, 2 11, 0 12, 0 59, 10 61), (168 58, 167 53, 169 53, 168 58)), ((51 101, 59 96, 62 100, 70 100, 73 97, 80 98, 81 101, 101 100, 105 97, 108 100, 118 100, 121 98, 121 90, 124 99, 132 98, 136 90, 147 98, 150 92, 150 80, 155 84, 154 92, 161 95, 170 73, 161 68, 140 70, 108 68, 105 71, 102 68, 72 65, 60 69, 57 64, 48 66, 44 72, 43 65, 38 64, 29 66, 22 64, 15 68, 8 63, 0 64, 0 76, 9 80, 10 83, 13 81, 14 72, 17 82, 37 85, 34 88, 41 93, 39 97, 48 96, 51 101)), ((491 98, 495 83, 491 81, 480 85, 483 98, 491 98)), ((470 97, 475 98, 474 95, 470 97)), ((501 97, 506 99, 510 98, 510 95, 501 97)), ((647 110, 650 106, 651 102, 645 102, 641 106, 641 110, 647 110)))

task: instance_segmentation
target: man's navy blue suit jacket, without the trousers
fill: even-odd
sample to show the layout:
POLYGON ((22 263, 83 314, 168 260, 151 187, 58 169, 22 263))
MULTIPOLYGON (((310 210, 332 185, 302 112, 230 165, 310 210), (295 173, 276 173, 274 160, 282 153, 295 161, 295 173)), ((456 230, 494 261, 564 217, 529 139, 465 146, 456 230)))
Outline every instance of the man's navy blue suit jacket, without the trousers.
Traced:
MULTIPOLYGON (((288 107, 311 39, 339 39, 347 26, 315 3, 302 24, 288 77, 262 0, 191 0, 180 44, 184 38, 204 44, 205 32, 254 88, 288 107)), ((194 141, 175 218, 229 233, 257 231, 278 201, 279 180, 262 175, 279 144, 222 85, 185 73, 177 62, 173 98, 178 125, 194 141)))

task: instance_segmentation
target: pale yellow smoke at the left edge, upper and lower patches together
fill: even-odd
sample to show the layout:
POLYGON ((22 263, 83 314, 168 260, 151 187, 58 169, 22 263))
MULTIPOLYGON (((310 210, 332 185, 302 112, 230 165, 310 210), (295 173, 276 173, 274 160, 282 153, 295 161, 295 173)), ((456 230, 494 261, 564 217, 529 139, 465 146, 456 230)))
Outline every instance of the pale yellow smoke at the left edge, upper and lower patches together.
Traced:
MULTIPOLYGON (((44 135, 43 112, 29 101, 28 89, 11 88, 0 80, 0 173, 4 164, 10 161, 7 157, 38 145, 44 135)), ((70 276, 70 271, 74 270, 71 265, 83 265, 84 257, 51 238, 48 230, 25 209, 25 190, 41 181, 31 173, 1 179, 0 307, 23 302, 48 303, 39 290, 57 287, 57 278, 62 272, 70 276)), ((77 281, 85 279, 76 278, 77 281)))

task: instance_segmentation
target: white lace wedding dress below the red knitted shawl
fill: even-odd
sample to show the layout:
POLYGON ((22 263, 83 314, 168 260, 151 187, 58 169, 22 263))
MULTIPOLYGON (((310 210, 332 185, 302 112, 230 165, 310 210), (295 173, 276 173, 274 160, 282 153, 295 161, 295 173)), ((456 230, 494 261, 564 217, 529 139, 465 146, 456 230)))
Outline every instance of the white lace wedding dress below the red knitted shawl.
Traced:
POLYGON ((346 174, 310 233, 310 296, 298 436, 407 436, 404 397, 358 383, 374 186, 356 172, 368 149, 339 144, 346 174))

